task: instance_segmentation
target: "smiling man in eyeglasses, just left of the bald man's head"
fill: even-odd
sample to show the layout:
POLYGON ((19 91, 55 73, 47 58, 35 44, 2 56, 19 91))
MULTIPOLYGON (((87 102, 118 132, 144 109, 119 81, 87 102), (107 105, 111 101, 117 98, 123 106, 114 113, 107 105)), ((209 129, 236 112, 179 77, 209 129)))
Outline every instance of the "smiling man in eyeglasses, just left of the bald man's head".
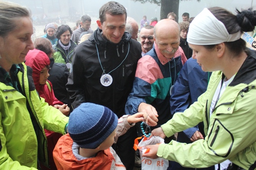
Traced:
POLYGON ((148 51, 150 51, 154 44, 153 39, 154 34, 154 27, 153 26, 144 26, 141 29, 141 32, 139 34, 140 40, 141 40, 141 56, 146 55, 148 51))

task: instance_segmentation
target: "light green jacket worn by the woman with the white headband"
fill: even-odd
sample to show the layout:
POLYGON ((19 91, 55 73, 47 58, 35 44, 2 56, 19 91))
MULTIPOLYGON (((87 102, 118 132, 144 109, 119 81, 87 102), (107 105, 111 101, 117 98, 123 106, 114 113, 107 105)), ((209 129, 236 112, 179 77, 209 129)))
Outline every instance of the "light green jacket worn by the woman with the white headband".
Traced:
POLYGON ((174 114, 161 126, 169 137, 203 121, 205 140, 191 144, 176 141, 160 144, 157 156, 176 161, 183 167, 209 167, 229 159, 242 168, 255 169, 256 52, 246 50, 246 53, 248 57, 217 101, 211 117, 212 98, 219 82, 224 79, 220 71, 212 73, 207 91, 198 102, 183 113, 174 114))

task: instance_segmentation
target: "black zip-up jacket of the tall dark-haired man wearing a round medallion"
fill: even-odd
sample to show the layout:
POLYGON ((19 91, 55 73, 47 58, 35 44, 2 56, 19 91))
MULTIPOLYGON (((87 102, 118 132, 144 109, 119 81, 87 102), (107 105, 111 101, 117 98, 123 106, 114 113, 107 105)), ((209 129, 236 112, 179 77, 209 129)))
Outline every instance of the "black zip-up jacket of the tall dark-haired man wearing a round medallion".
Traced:
POLYGON ((121 117, 133 87, 141 45, 126 32, 118 44, 104 39, 101 32, 98 28, 76 47, 66 88, 74 109, 81 103, 91 102, 106 106, 121 117), (100 83, 102 68, 113 78, 107 87, 100 83))

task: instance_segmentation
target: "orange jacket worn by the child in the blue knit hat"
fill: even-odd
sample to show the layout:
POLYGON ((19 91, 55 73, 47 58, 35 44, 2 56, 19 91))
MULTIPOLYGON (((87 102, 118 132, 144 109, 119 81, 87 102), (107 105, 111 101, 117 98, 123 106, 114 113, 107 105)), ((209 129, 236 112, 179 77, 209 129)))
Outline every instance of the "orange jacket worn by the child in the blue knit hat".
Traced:
POLYGON ((96 157, 78 160, 72 151, 73 140, 69 134, 62 136, 53 150, 58 170, 125 170, 112 147, 98 152, 96 157))

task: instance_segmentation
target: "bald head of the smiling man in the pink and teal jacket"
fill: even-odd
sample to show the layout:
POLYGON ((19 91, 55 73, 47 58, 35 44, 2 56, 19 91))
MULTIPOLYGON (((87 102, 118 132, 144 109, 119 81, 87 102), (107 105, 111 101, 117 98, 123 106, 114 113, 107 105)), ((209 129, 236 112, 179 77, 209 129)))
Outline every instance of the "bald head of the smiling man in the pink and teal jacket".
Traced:
POLYGON ((180 45, 180 26, 172 19, 162 19, 154 27, 154 41, 163 56, 173 58, 180 45))

